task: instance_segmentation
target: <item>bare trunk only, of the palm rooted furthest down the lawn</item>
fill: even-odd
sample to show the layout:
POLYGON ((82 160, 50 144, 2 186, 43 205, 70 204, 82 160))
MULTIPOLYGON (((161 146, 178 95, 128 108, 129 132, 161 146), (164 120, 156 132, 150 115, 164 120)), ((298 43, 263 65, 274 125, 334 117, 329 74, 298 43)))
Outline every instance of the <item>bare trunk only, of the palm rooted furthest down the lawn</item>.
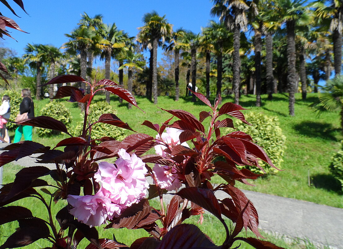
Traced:
POLYGON ((295 86, 296 86, 296 67, 295 67, 295 33, 294 21, 287 21, 287 67, 288 67, 288 92, 289 92, 289 115, 294 116, 294 104, 295 104, 295 86))

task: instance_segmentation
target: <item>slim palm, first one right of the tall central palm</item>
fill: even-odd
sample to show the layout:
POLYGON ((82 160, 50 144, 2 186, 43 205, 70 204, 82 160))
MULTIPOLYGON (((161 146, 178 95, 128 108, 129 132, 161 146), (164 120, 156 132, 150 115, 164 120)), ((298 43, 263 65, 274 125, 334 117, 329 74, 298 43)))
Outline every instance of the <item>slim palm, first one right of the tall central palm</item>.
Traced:
POLYGON ((170 45, 167 47, 169 50, 174 50, 174 75, 175 75, 175 101, 179 100, 179 66, 180 66, 180 50, 187 51, 190 46, 185 41, 186 31, 182 28, 177 29, 173 33, 173 37, 170 40, 170 45))

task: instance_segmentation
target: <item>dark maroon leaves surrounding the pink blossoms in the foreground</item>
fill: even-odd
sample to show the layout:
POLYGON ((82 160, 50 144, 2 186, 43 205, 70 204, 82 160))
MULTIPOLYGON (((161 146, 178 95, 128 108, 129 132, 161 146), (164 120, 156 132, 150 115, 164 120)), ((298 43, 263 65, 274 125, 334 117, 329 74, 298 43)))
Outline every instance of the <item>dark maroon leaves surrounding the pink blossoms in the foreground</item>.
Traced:
MULTIPOLYGON (((65 75, 58 76, 47 84, 68 82, 85 81, 78 76, 65 75)), ((54 249, 76 248, 82 239, 89 241, 87 249, 228 249, 232 248, 236 240, 244 241, 258 249, 280 248, 258 238, 236 237, 242 229, 250 229, 257 237, 262 237, 258 230, 258 214, 253 203, 235 187, 235 181, 250 184, 247 179, 256 179, 261 175, 247 169, 238 170, 236 166, 253 165, 261 168, 258 160, 273 166, 263 149, 254 144, 248 134, 234 131, 233 121, 225 115, 228 114, 249 124, 241 112, 246 109, 236 104, 225 103, 217 110, 220 100, 212 106, 204 95, 193 92, 211 108, 210 111, 200 112, 199 119, 187 111, 162 109, 171 115, 167 121, 161 125, 150 121, 142 123, 156 133, 156 138, 143 133, 134 133, 122 141, 117 141, 104 134, 104 137, 96 141, 92 139, 92 126, 96 123, 106 123, 133 131, 127 123, 111 113, 101 115, 97 121, 92 121, 93 123, 87 122, 89 106, 97 91, 109 91, 137 107, 138 105, 129 91, 113 81, 104 79, 94 81, 93 84, 86 83, 91 87, 89 94, 85 95, 83 89, 63 86, 52 98, 69 97, 67 100, 69 102, 84 104, 85 118, 80 137, 71 136, 63 139, 53 149, 31 141, 12 144, 3 149, 5 152, 0 155, 0 167, 11 161, 40 153, 36 156, 37 161, 41 164, 54 163, 56 169, 51 170, 44 166, 24 168, 16 174, 13 183, 3 185, 0 192, 0 217, 2 217, 0 225, 17 221, 20 229, 8 237, 0 249, 25 246, 42 238, 50 241, 50 248, 54 249), (174 138, 170 142, 163 139, 166 129, 171 130, 167 127, 182 130, 178 142, 174 141, 174 138), (221 135, 220 129, 223 127, 233 128, 233 132, 221 135), (181 145, 184 142, 188 142, 191 146, 181 145), (161 154, 163 156, 146 153, 158 144, 165 146, 161 154), (100 188, 99 183, 94 179, 99 167, 98 161, 117 158, 120 149, 140 157, 148 170, 146 176, 154 180, 154 183, 150 184, 146 198, 139 199, 138 203, 122 210, 119 216, 107 220, 106 228, 144 229, 151 235, 135 240, 130 247, 116 241, 115 238, 99 239, 95 227, 81 223, 69 212, 73 208, 70 204, 55 215, 51 213, 51 203, 65 200, 68 195, 96 193, 100 188), (172 193, 173 197, 166 206, 163 205, 163 198, 168 191, 161 189, 157 183, 153 169, 155 164, 165 166, 169 173, 176 174, 175 179, 182 184, 176 193, 172 193), (226 183, 214 187, 211 178, 215 174, 222 177, 226 183), (56 184, 49 185, 45 180, 40 179, 43 176, 51 176, 56 184), (55 192, 50 192, 51 188, 45 189, 46 186, 54 187, 55 192), (227 197, 218 200, 215 196, 217 191, 225 192, 227 197), (45 201, 41 192, 50 196, 50 204, 45 201), (43 202, 49 213, 46 221, 40 217, 33 217, 32 212, 26 207, 6 206, 26 197, 35 197, 43 202), (159 198, 161 206, 150 205, 149 200, 155 197, 159 198), (223 224, 226 235, 223 245, 215 245, 197 226, 183 224, 190 216, 197 215, 200 224, 206 225, 203 216, 206 211, 223 224), (235 226, 229 228, 223 217, 230 219, 235 226), (59 228, 56 228, 55 224, 58 224, 59 228)), ((66 126, 60 121, 46 116, 29 118, 18 124, 55 129, 69 134, 66 126)))

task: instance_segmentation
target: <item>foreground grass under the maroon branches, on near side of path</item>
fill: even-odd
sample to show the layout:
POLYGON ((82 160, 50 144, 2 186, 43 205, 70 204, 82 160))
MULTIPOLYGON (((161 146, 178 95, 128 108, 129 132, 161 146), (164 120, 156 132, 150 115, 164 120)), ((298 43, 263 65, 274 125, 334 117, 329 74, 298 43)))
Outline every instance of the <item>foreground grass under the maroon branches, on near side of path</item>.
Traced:
MULTIPOLYGON (((13 163, 10 163, 6 166, 4 166, 4 183, 9 183, 14 180, 15 173, 19 171, 22 167, 14 165, 13 163)), ((50 184, 53 184, 52 179, 49 179, 49 177, 44 177, 44 180, 47 180, 50 184)), ((40 191, 39 191, 40 192, 40 191)), ((46 194, 40 192, 43 196, 47 197, 47 202, 49 202, 49 196, 46 194)), ((156 208, 159 208, 159 201, 152 200, 151 205, 153 205, 156 208)), ((35 198, 25 198, 20 201, 16 201, 12 203, 11 205, 19 205, 19 206, 25 206, 29 208, 34 216, 46 219, 48 217, 47 210, 45 206, 37 201, 35 198)), ((56 215, 56 213, 66 205, 65 200, 60 200, 56 205, 52 205, 52 215, 53 217, 56 215)), ((225 229, 223 225, 220 223, 220 221, 213 215, 209 215, 207 212, 204 214, 204 222, 202 225, 197 224, 199 219, 199 216, 192 216, 191 218, 187 219, 185 223, 188 224, 195 224, 199 226, 199 228, 203 231, 203 233, 209 235, 209 237, 213 240, 213 242, 217 245, 221 245, 223 241, 225 240, 225 229)), ((226 223, 229 225, 230 222, 228 219, 226 219, 226 223)), ((57 222, 55 222, 56 227, 58 228, 57 222)), ((105 226, 105 225, 104 225, 105 226)), ((128 230, 126 228, 123 229, 103 229, 103 227, 98 228, 99 232, 99 238, 109 238, 112 239, 113 236, 115 236, 116 240, 124 243, 126 245, 131 245, 131 243, 140 238, 140 237, 146 237, 149 236, 149 234, 144 231, 143 229, 137 229, 137 230, 128 230)), ((0 245, 2 245, 8 236, 10 236, 15 229, 18 227, 17 222, 11 222, 0 226, 0 245)), ((65 232, 65 235, 67 234, 67 231, 65 232)), ((285 237, 275 235, 275 234, 269 234, 264 233, 261 231, 262 236, 266 238, 266 240, 273 242, 277 246, 283 247, 283 248, 289 248, 289 249, 315 249, 317 247, 311 245, 309 242, 306 242, 306 247, 302 243, 299 243, 299 239, 287 239, 285 237)), ((255 237, 253 233, 248 230, 247 232, 244 230, 242 231, 238 236, 240 237, 255 237)), ((78 246, 78 248, 85 248, 89 244, 89 241, 86 239, 83 239, 78 246)), ((239 242, 237 241, 234 244, 235 246, 238 246, 239 242)), ((33 244, 23 247, 24 249, 36 249, 36 248, 44 248, 51 246, 51 243, 40 239, 35 241, 33 244)), ((240 249, 252 249, 250 245, 246 244, 245 242, 241 241, 240 249)))

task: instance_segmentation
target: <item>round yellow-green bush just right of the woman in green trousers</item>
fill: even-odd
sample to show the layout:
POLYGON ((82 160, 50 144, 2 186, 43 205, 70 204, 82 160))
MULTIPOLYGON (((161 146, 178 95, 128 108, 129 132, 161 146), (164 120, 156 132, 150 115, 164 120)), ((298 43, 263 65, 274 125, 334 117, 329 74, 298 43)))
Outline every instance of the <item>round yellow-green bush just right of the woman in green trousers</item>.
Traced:
MULTIPOLYGON (((45 105, 45 107, 42 108, 42 110, 40 111, 40 115, 55 118, 56 120, 59 120, 63 124, 65 124, 67 128, 70 127, 71 114, 70 114, 69 109, 62 102, 59 102, 59 101, 49 102, 48 104, 45 105)), ((39 137, 61 134, 61 132, 58 132, 58 131, 39 128, 39 127, 36 127, 36 133, 38 134, 39 137)))

